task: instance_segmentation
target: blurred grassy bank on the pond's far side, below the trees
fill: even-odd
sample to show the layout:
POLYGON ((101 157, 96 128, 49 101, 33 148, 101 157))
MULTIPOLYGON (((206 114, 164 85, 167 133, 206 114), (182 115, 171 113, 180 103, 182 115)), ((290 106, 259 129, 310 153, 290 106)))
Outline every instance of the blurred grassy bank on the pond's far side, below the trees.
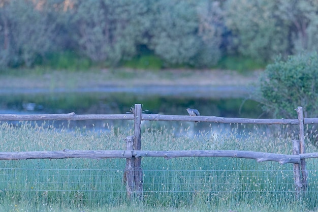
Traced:
POLYGON ((0 73, 0 89, 76 89, 107 86, 141 85, 237 85, 246 86, 255 82, 260 71, 241 74, 230 70, 192 70, 165 69, 142 70, 93 68, 86 71, 66 71, 35 68, 29 70, 10 70, 0 73))

